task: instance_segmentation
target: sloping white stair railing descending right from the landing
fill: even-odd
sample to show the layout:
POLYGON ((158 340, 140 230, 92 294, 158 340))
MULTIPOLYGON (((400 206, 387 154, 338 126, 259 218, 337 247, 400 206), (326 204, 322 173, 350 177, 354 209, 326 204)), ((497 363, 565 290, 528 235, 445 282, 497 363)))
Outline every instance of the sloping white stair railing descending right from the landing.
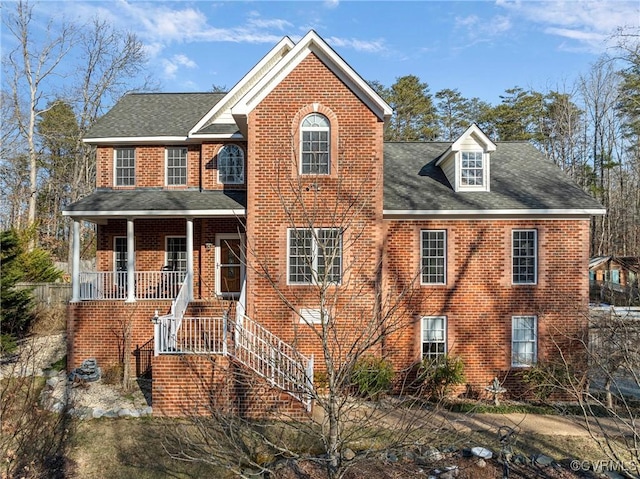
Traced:
POLYGON ((313 356, 307 358, 246 315, 234 324, 231 355, 267 382, 311 410, 313 356))

